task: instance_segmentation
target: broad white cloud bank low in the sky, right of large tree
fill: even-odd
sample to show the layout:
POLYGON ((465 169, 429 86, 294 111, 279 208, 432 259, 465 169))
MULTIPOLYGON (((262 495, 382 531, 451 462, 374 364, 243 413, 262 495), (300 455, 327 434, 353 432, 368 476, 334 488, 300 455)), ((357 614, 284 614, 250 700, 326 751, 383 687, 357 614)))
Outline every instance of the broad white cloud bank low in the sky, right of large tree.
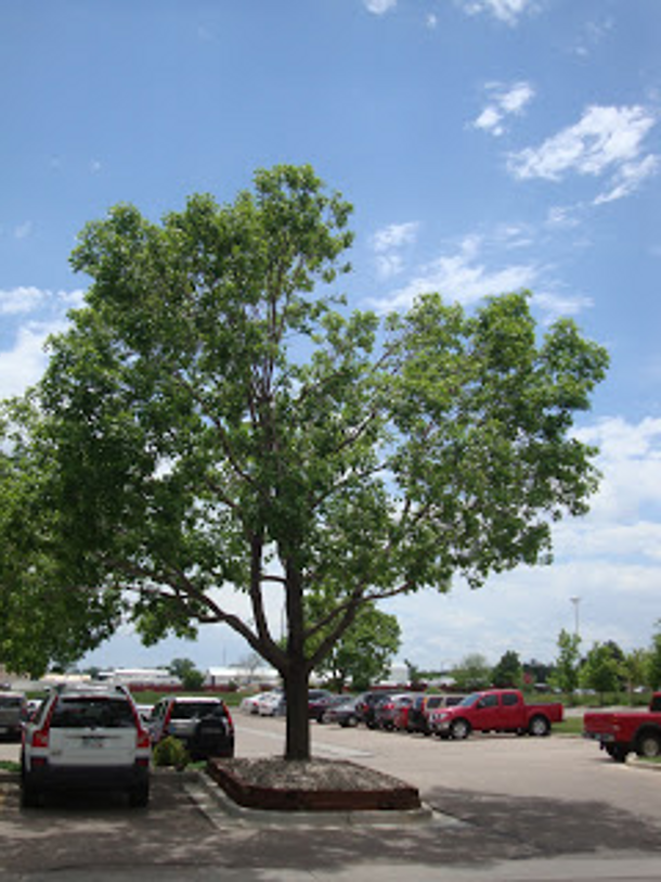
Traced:
POLYGON ((598 444, 601 488, 584 517, 554 527, 556 562, 519 566, 478 591, 461 581, 445 597, 431 591, 389 602, 403 631, 402 659, 422 667, 483 652, 490 663, 514 649, 552 661, 561 628, 573 629, 580 597, 583 649, 615 640, 624 650, 649 644, 661 584, 661 419, 611 417, 582 429, 598 444), (658 515, 646 515, 654 508, 658 515))

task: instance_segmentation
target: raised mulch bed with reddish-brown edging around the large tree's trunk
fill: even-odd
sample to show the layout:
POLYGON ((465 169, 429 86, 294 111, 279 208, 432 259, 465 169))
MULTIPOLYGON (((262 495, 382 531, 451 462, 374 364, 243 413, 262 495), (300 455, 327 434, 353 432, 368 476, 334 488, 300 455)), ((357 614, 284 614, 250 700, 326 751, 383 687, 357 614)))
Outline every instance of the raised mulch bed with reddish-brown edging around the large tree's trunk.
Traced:
POLYGON ((349 762, 213 758, 207 771, 230 798, 246 808, 402 811, 422 805, 416 788, 349 762))

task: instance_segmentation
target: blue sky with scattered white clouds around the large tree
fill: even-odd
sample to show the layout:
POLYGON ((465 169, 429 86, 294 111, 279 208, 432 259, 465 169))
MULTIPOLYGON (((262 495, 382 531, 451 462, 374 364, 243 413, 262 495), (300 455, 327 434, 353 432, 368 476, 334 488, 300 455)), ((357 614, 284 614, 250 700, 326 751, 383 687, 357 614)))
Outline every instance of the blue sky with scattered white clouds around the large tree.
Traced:
MULTIPOLYGON (((422 667, 514 649, 649 643, 661 617, 661 4, 657 0, 0 0, 0 395, 44 366, 80 302, 76 234, 131 202, 232 201, 311 163, 353 203, 350 303, 533 291, 612 367, 578 432, 601 448, 591 514, 552 567, 389 603, 422 667)), ((91 656, 239 660, 229 631, 91 656)))

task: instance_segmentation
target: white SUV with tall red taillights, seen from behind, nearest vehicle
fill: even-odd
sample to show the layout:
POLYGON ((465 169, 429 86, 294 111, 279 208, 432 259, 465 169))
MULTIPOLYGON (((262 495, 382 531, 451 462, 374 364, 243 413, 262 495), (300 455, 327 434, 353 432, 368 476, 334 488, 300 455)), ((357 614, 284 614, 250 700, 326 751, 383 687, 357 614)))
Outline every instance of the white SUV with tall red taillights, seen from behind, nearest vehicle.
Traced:
POLYGON ((60 687, 24 729, 22 804, 35 807, 52 790, 104 789, 145 806, 150 756, 150 733, 127 689, 60 687))

